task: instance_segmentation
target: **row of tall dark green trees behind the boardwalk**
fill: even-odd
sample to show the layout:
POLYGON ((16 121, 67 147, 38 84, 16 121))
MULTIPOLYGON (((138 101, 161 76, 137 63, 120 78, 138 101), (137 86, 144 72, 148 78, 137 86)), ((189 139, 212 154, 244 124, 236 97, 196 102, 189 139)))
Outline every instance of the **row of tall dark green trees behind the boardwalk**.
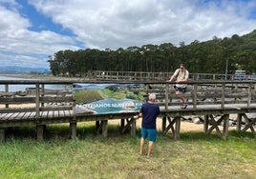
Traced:
POLYGON ((60 50, 48 62, 55 76, 86 76, 88 70, 170 72, 184 64, 193 73, 232 74, 256 70, 256 30, 239 36, 195 40, 189 45, 171 43, 117 50, 60 50))

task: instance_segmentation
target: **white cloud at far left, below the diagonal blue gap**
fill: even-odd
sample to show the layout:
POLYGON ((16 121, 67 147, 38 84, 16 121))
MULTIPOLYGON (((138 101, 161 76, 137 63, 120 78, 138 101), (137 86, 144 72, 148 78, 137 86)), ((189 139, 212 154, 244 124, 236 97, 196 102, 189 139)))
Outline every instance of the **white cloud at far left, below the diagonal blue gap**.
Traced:
MULTIPOLYGON (((29 19, 21 16, 19 5, 10 2, 10 9, 0 1, 0 61, 1 65, 47 67, 48 56, 58 50, 77 50, 75 39, 50 30, 29 30, 29 19), (40 59, 38 59, 40 56, 40 59)), ((6 3, 6 2, 4 2, 6 3)))

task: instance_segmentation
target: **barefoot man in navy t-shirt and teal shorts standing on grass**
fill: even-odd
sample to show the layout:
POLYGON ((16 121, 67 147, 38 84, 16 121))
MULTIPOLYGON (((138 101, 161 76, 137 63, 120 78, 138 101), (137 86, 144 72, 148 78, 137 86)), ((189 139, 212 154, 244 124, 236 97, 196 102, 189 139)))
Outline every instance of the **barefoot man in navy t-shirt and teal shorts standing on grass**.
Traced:
POLYGON ((160 107, 155 104, 155 101, 156 94, 149 94, 148 102, 141 106, 139 114, 135 116, 136 119, 142 117, 139 154, 143 154, 145 140, 148 138, 147 158, 150 158, 154 142, 157 139, 157 116, 160 114, 160 107))

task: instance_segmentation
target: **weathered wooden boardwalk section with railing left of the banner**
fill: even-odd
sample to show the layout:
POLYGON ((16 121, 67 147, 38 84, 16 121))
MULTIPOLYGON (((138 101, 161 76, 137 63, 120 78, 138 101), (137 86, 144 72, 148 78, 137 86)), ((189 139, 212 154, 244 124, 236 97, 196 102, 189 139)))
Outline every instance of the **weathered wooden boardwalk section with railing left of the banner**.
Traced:
POLYGON ((5 138, 5 129, 10 127, 36 126, 37 138, 43 139, 46 124, 72 120, 72 82, 46 81, 1 81, 0 91, 0 139, 5 138), (69 89, 45 89, 49 85, 66 85, 69 89), (23 90, 11 91, 10 89, 23 90))

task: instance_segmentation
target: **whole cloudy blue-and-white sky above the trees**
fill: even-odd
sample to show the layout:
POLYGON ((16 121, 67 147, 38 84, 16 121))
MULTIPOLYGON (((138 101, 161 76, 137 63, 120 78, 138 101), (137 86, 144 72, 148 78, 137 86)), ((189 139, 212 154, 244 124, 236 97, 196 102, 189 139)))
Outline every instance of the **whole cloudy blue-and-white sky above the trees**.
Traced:
POLYGON ((59 50, 179 47, 252 30, 255 0, 0 0, 0 61, 49 68, 59 50))

